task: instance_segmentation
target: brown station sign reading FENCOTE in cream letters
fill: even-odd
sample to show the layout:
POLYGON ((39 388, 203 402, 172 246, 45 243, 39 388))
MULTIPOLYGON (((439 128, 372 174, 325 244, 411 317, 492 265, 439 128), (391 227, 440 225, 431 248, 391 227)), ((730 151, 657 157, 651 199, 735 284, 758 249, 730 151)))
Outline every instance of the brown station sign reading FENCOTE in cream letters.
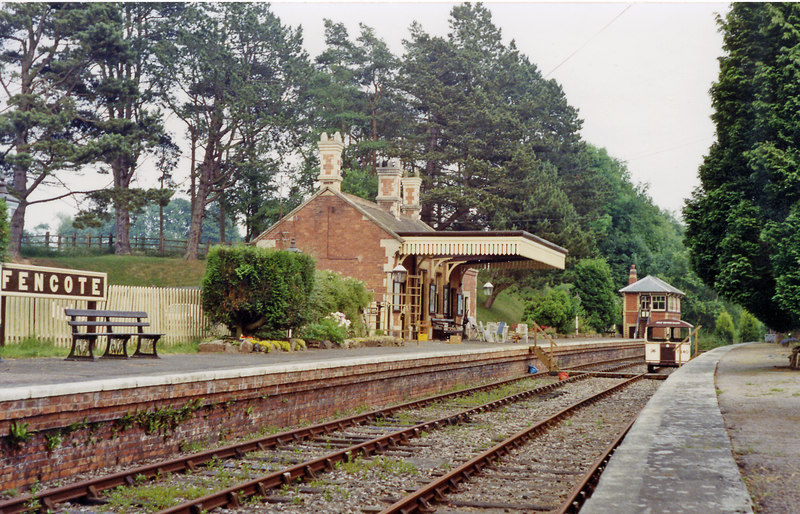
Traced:
POLYGON ((27 264, 0 265, 0 295, 61 298, 102 302, 108 294, 108 274, 46 268, 27 264))

